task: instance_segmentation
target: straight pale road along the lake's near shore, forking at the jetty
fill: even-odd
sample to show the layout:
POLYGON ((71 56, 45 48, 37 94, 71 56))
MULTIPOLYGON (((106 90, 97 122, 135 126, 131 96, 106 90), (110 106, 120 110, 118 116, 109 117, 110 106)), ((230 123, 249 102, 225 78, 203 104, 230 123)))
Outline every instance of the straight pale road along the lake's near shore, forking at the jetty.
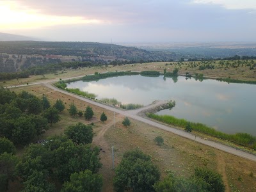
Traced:
MULTIPOLYGON (((93 104, 95 106, 99 106, 100 108, 108 109, 109 111, 114 111, 115 113, 120 113, 120 114, 122 114, 124 116, 128 116, 130 118, 133 118, 134 120, 138 120, 138 121, 143 122, 145 124, 152 125, 152 126, 157 127, 159 129, 163 129, 165 131, 173 132, 174 134, 177 134, 177 135, 182 136, 184 138, 188 138, 189 140, 195 140, 198 143, 202 143, 204 145, 208 145, 210 147, 214 147, 214 148, 217 148, 219 150, 223 150, 223 151, 228 152, 230 154, 234 154, 235 156, 243 157, 243 158, 249 159, 251 161, 256 161, 256 156, 253 155, 253 154, 249 154, 247 152, 243 152, 241 150, 237 150, 236 148, 228 147, 228 146, 223 145, 221 143, 216 143, 214 141, 204 140, 204 138, 199 138, 199 137, 195 138, 195 135, 193 135, 193 134, 191 134, 189 132, 185 132, 185 131, 182 131, 180 129, 175 129, 173 127, 168 127, 166 125, 159 124, 158 122, 154 122, 154 121, 152 121, 150 119, 138 116, 136 114, 139 112, 139 110, 133 110, 133 111, 120 110, 120 109, 117 109, 117 108, 113 108, 111 106, 107 106, 105 104, 101 104, 99 102, 95 102, 95 101, 90 100, 90 99, 86 99, 84 97, 81 97, 79 95, 75 95, 73 93, 65 92, 63 90, 60 90, 60 89, 52 86, 49 83, 45 83, 44 85, 47 86, 48 88, 51 88, 52 90, 56 90, 58 92, 66 94, 66 95, 70 95, 72 97, 75 97, 76 99, 80 99, 80 100, 83 100, 83 101, 88 102, 90 104, 93 104)), ((146 108, 148 108, 148 107, 146 107, 146 108)), ((145 108, 143 108, 143 109, 145 109, 145 108)), ((143 110, 143 109, 141 109, 141 110, 143 110)))

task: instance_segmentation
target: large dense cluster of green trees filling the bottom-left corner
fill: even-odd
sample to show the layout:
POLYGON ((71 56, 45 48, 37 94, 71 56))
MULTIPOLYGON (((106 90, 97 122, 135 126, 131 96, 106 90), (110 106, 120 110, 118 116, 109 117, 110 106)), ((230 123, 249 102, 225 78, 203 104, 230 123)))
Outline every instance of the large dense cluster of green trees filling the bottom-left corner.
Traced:
POLYGON ((68 127, 66 133, 41 144, 30 144, 20 159, 12 153, 1 154, 1 191, 8 189, 10 180, 18 178, 26 192, 51 192, 56 191, 56 186, 61 186, 61 191, 100 191, 100 150, 88 144, 92 142, 92 129, 77 124, 68 127), (74 137, 76 131, 83 135, 74 137), (84 138, 83 131, 91 137, 84 138))

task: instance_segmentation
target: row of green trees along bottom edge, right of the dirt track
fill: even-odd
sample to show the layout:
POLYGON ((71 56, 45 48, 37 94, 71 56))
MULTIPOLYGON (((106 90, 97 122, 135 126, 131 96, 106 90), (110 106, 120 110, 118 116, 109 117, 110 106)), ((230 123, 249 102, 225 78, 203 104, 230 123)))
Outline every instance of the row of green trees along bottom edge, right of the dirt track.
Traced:
POLYGON ((116 167, 113 186, 116 191, 225 191, 221 175, 207 168, 195 168, 195 174, 189 178, 170 174, 159 179, 159 168, 152 163, 151 157, 135 149, 125 152, 116 167))

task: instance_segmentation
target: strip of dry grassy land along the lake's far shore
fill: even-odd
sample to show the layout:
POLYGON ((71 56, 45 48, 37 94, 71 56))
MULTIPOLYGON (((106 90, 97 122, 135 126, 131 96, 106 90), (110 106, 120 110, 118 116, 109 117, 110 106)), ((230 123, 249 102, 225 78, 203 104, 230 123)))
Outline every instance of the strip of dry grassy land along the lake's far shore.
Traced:
POLYGON ((31 76, 26 79, 13 79, 10 81, 0 81, 0 86, 15 86, 19 84, 35 83, 42 81, 58 80, 63 78, 72 78, 76 76, 85 76, 86 74, 94 74, 95 72, 115 72, 120 70, 145 71, 156 70, 163 72, 172 72, 174 68, 179 68, 179 74, 185 75, 187 72, 191 75, 204 74, 209 78, 231 78, 246 81, 256 81, 256 68, 251 69, 252 62, 256 61, 195 61, 195 62, 154 62, 141 63, 133 65, 117 65, 108 67, 86 67, 77 69, 66 69, 56 74, 45 74, 44 76, 31 76), (204 63, 203 63, 204 62, 204 63), (205 68, 199 70, 200 66, 214 66, 214 68, 205 68))

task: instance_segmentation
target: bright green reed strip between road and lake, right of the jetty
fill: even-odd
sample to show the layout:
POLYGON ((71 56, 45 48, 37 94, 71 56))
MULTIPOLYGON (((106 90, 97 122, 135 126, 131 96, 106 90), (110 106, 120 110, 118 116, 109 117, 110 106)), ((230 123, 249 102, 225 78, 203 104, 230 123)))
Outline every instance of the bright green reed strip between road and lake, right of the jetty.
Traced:
POLYGON ((175 125, 177 127, 186 128, 188 124, 191 125, 191 128, 195 131, 202 132, 204 134, 208 134, 210 136, 214 136, 216 138, 220 138, 222 140, 232 141, 237 145, 242 145, 244 147, 252 148, 256 150, 256 137, 252 136, 251 134, 247 133, 236 133, 236 134, 226 134, 221 131, 216 131, 216 129, 212 127, 208 127, 207 125, 189 122, 185 119, 175 118, 174 116, 170 115, 156 115, 153 113, 147 113, 149 118, 153 118, 154 120, 163 122, 169 125, 175 125))

